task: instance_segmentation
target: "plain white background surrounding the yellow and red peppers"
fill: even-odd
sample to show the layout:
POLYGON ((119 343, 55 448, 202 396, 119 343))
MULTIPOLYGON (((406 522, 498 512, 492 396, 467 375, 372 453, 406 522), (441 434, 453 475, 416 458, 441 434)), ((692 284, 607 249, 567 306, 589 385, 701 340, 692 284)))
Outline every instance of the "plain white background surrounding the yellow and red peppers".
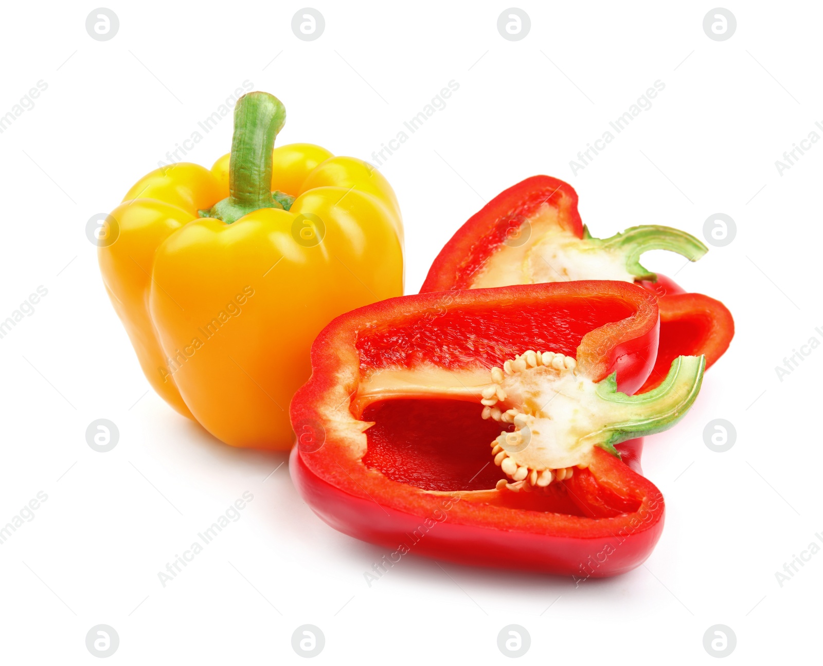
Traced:
MULTIPOLYGON (((823 121, 823 7, 732 4, 737 32, 718 42, 702 28, 711 4, 672 5, 525 2, 531 32, 511 42, 496 28, 505 3, 319 2, 325 32, 304 42, 300 4, 143 0, 110 4, 119 33, 100 42, 85 30, 93 5, 7 4, 0 114, 37 81, 48 90, 0 134, 0 319, 38 285, 49 293, 0 340, 0 524, 39 491, 48 501, 0 546, 0 660, 97 663, 85 637, 100 623, 119 633, 113 664, 303 663, 291 634, 305 623, 328 664, 508 663, 496 637, 512 623, 533 664, 710 663, 703 635, 718 623, 737 635, 728 663, 816 650, 823 554, 782 587, 775 571, 823 531, 823 349, 783 382, 774 367, 823 341, 823 145, 782 176, 774 161, 823 121), (245 79, 286 104, 278 143, 365 160, 459 83, 381 168, 402 206, 409 292, 459 224, 535 173, 572 183, 598 236, 737 222, 695 265, 645 257, 723 300, 737 335, 686 419, 647 441, 667 523, 644 566, 575 588, 409 556, 369 587, 386 551, 316 518, 285 453, 231 450, 149 390, 86 221, 245 79), (574 175, 578 150, 656 80, 653 107, 574 175), (85 440, 100 418, 120 432, 105 454, 85 440), (717 418, 737 429, 725 453, 704 445, 717 418), (157 572, 244 491, 240 520, 163 588, 157 572)), ((187 159, 210 166, 230 135, 224 120, 187 159)))

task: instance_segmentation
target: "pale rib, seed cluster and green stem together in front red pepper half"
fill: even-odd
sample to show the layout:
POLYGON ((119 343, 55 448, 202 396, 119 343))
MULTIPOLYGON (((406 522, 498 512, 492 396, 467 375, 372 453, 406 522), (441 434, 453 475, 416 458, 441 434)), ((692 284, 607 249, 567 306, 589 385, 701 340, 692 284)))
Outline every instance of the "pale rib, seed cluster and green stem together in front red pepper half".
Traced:
POLYGON ((423 362, 367 370, 350 409, 360 418, 368 405, 387 399, 479 401, 482 419, 514 425, 513 432, 506 428, 491 442, 495 465, 507 477, 495 489, 531 491, 569 479, 575 467, 587 468, 595 446, 611 450, 616 437, 623 439, 636 428, 645 432, 658 421, 675 423, 700 387, 702 363, 699 357, 678 358, 664 396, 656 390, 630 398, 616 391, 615 377, 605 384, 593 382, 574 358, 555 352, 529 350, 491 371, 487 366, 443 368, 423 362))

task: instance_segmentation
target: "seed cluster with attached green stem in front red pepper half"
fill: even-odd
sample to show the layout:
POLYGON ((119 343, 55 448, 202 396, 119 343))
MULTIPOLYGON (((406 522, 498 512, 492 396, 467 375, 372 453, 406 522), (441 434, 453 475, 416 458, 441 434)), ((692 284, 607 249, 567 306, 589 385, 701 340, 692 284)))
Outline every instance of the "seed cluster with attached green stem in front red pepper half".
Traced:
POLYGON ((588 464, 593 446, 614 445, 671 428, 700 391, 705 358, 679 356, 666 379, 643 395, 617 391, 616 373, 593 382, 574 358, 527 351, 491 371, 482 417, 514 423, 491 442, 495 465, 514 482, 544 486, 588 464))

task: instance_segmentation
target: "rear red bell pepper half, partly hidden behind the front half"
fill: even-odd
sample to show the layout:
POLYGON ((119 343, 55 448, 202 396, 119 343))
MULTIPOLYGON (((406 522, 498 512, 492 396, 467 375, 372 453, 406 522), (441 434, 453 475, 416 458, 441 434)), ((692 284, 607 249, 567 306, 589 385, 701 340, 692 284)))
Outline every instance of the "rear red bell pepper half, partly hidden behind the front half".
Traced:
POLYGON ((446 243, 421 293, 567 280, 635 281, 658 296, 660 308, 658 358, 640 391, 663 382, 677 356, 704 354, 709 368, 734 335, 731 312, 714 298, 686 294, 639 263, 643 252, 655 249, 696 261, 707 247, 690 234, 657 225, 592 238, 577 201, 574 187, 549 176, 509 187, 446 243))

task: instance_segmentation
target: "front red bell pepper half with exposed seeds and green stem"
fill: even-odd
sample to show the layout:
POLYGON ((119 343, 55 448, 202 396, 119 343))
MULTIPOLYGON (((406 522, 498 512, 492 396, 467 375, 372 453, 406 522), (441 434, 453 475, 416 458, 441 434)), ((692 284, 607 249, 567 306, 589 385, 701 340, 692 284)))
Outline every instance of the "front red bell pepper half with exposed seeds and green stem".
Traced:
MULTIPOLYGON (((669 428, 703 357, 653 366, 657 299, 633 284, 390 298, 332 321, 291 402, 291 476, 329 525, 452 562, 613 576, 649 557, 663 497, 615 444, 669 428)), ((395 560, 396 561, 396 560, 395 560)))

